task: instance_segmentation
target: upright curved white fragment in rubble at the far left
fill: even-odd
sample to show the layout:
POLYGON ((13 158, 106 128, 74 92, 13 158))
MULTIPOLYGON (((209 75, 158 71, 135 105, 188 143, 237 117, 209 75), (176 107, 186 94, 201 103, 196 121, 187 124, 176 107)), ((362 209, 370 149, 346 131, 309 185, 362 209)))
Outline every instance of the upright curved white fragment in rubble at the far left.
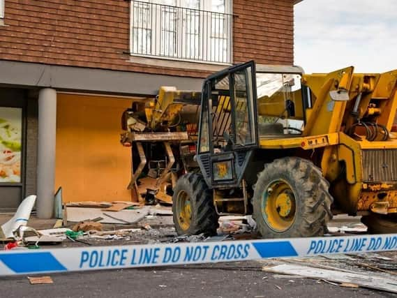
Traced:
POLYGON ((14 232, 22 225, 27 225, 29 221, 29 217, 31 214, 31 210, 33 209, 34 202, 36 202, 36 195, 29 195, 29 197, 25 198, 13 218, 9 221, 1 225, 0 236, 1 238, 13 238, 14 232))

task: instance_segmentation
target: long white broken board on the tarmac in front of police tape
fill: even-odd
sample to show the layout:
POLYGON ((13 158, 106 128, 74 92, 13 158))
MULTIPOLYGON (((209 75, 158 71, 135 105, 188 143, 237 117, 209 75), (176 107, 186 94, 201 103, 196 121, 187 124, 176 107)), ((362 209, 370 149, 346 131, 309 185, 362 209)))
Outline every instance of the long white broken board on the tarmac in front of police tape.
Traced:
POLYGON ((383 290, 397 293, 396 278, 387 278, 384 276, 375 276, 374 274, 350 273, 339 270, 320 269, 315 267, 301 265, 277 265, 273 267, 264 267, 262 270, 276 274, 288 274, 306 276, 308 278, 324 279, 326 281, 335 281, 337 283, 352 283, 364 288, 383 290))

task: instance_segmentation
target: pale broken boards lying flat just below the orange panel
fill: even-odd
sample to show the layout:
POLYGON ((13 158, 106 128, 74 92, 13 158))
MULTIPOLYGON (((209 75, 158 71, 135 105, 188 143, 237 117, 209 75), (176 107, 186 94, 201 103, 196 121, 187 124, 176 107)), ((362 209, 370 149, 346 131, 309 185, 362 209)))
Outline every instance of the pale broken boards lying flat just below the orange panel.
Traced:
POLYGON ((137 223, 149 214, 149 210, 150 207, 147 206, 142 207, 141 209, 121 210, 117 212, 106 212, 98 208, 66 207, 68 221, 75 223, 97 217, 103 218, 99 221, 100 223, 137 223), (107 216, 106 214, 112 214, 112 217, 107 216))

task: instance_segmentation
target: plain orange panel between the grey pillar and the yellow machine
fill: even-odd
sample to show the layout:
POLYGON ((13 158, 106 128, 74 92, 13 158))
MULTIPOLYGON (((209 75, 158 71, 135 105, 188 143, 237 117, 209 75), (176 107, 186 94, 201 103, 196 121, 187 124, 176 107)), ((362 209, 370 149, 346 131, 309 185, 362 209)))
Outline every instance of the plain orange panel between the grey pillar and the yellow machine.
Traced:
POLYGON ((64 202, 131 200, 130 151, 119 142, 130 98, 58 94, 55 190, 64 202))

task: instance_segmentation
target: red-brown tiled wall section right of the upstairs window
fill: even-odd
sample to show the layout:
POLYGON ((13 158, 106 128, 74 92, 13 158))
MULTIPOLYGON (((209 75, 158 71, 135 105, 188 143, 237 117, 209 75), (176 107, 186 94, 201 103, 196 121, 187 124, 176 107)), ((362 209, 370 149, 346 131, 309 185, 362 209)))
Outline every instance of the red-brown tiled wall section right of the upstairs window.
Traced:
POLYGON ((235 0, 233 8, 234 62, 294 63, 292 0, 235 0))

